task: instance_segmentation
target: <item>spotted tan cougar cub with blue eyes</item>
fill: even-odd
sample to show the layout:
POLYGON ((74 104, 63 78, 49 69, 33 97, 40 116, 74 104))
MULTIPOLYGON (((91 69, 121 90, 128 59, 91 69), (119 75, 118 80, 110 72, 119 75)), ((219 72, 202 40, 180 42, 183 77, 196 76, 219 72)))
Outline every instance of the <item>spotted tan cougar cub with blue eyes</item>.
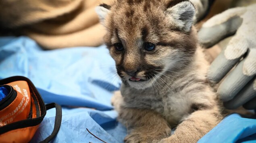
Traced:
POLYGON ((125 143, 196 143, 219 123, 190 1, 117 0, 96 11, 123 81, 113 104, 125 143))

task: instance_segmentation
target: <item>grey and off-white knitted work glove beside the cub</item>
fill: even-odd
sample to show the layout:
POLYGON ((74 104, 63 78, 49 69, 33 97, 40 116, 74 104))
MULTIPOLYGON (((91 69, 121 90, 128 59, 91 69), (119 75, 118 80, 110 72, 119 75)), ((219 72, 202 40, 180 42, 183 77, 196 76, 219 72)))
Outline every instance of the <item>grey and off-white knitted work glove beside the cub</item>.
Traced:
POLYGON ((219 83, 228 73, 218 89, 225 107, 256 109, 256 4, 226 10, 204 23, 198 32, 206 47, 233 34, 212 62, 208 79, 219 83))

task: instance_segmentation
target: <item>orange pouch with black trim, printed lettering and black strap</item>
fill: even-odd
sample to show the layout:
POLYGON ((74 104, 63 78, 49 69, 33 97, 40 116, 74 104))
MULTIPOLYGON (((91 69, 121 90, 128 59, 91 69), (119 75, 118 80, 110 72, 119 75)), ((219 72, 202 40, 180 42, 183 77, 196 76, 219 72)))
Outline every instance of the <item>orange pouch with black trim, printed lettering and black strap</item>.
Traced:
POLYGON ((7 93, 0 101, 0 143, 28 143, 43 121, 46 110, 56 108, 52 134, 41 143, 50 142, 60 129, 60 105, 44 101, 33 83, 16 76, 0 80, 0 88, 7 93))

